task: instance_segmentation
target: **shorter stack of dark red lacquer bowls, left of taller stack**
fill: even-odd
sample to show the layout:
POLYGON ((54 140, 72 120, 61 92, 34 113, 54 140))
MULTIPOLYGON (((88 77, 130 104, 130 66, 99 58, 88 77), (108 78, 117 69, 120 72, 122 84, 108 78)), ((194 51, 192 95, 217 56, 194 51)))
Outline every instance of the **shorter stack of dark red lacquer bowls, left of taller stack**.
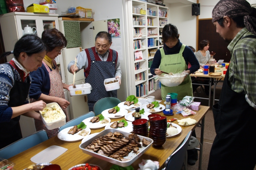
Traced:
POLYGON ((148 136, 148 120, 137 119, 132 122, 132 130, 134 134, 147 137, 148 136))

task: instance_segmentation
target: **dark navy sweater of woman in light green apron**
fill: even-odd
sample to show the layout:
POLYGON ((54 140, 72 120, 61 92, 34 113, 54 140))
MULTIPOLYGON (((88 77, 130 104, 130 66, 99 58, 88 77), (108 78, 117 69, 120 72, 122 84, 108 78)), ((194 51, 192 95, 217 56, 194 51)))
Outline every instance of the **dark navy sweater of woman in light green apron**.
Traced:
MULTIPOLYGON (((180 52, 181 46, 182 46, 182 43, 180 42, 180 39, 178 39, 177 44, 172 48, 169 48, 164 44, 164 47, 165 47, 164 53, 165 55, 178 54, 180 52)), ((184 57, 186 64, 188 65, 188 62, 191 64, 191 67, 188 69, 190 70, 190 73, 194 73, 196 70, 200 68, 198 60, 196 59, 196 55, 193 53, 191 48, 186 46, 182 55, 184 57)), ((161 52, 160 50, 157 50, 153 59, 153 63, 150 67, 151 74, 156 75, 154 69, 159 68, 161 63, 161 58, 162 58, 161 52)))

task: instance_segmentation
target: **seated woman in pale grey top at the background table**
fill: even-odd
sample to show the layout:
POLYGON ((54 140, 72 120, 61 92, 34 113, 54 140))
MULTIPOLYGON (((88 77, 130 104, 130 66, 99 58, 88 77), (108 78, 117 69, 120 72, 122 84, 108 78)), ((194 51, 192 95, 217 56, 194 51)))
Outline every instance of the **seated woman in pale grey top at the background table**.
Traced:
POLYGON ((200 64, 200 68, 202 68, 204 65, 209 65, 209 59, 210 57, 212 57, 213 55, 210 55, 209 52, 209 46, 210 46, 210 42, 208 40, 203 40, 199 43, 199 49, 195 55, 196 55, 196 59, 198 60, 199 64, 200 64))

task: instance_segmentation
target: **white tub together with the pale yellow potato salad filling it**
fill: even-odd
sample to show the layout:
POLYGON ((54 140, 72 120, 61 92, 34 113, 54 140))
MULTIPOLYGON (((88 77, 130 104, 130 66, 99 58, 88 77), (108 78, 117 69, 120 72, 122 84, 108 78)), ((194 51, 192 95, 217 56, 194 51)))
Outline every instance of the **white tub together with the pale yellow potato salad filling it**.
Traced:
POLYGON ((43 111, 39 111, 47 129, 52 130, 66 124, 66 115, 58 103, 49 103, 43 111))

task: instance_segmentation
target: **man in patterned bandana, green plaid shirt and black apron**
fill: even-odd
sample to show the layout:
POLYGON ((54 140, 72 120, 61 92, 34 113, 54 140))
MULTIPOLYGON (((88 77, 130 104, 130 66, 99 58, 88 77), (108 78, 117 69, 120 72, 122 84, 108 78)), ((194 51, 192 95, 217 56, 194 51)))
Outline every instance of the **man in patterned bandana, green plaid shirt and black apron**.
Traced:
POLYGON ((216 137, 208 170, 253 170, 256 164, 256 9, 246 0, 220 0, 216 32, 231 53, 220 100, 213 105, 216 137))

